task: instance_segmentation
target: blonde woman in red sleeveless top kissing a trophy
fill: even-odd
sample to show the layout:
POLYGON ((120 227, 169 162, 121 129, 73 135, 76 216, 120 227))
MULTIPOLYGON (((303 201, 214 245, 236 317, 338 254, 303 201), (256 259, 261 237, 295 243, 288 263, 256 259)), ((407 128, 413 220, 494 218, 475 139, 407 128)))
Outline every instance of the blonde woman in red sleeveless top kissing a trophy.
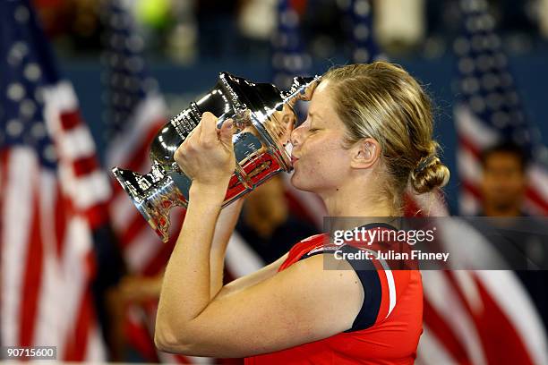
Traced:
MULTIPOLYGON (((164 276, 158 348, 248 357, 247 363, 413 363, 422 332, 417 271, 361 271, 350 261, 350 269, 325 270, 324 255, 313 254, 323 253, 320 235, 222 286, 225 248, 241 208, 238 202, 219 215, 235 167, 230 124, 216 130, 216 118, 204 114, 176 152, 193 185, 164 276)), ((449 179, 432 140, 429 99, 392 64, 327 72, 291 142, 292 183, 316 192, 330 216, 401 216, 407 183, 422 193, 449 179)))

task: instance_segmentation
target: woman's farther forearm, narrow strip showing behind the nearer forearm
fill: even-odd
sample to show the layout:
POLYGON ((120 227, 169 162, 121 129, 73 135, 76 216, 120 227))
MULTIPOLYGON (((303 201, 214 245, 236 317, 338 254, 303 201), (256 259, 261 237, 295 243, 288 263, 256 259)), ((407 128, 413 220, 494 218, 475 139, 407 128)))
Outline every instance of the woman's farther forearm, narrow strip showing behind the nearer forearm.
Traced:
POLYGON ((243 205, 244 199, 238 199, 226 208, 223 208, 218 216, 210 253, 210 298, 215 297, 223 287, 227 243, 234 232, 243 205))

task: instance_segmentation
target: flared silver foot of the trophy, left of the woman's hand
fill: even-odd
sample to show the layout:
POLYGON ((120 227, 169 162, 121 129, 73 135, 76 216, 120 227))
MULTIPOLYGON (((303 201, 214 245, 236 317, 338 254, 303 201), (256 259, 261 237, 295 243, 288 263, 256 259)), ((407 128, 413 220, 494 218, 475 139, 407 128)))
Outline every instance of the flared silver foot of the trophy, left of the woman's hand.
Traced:
POLYGON ((187 200, 169 174, 153 166, 149 174, 137 174, 118 167, 112 169, 116 179, 130 196, 133 205, 163 242, 169 240, 169 210, 186 208, 187 200))

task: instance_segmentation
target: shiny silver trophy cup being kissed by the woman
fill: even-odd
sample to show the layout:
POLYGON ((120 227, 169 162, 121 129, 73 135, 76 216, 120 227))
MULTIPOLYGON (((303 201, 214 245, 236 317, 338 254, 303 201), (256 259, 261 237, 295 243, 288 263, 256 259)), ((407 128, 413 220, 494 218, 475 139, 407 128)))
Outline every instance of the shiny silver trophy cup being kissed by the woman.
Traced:
POLYGON ((225 207, 272 175, 293 169, 288 148, 296 122, 294 105, 299 99, 309 100, 319 80, 319 76, 295 77, 291 89, 280 91, 269 83, 254 83, 221 72, 209 93, 191 103, 158 132, 150 146, 149 174, 118 167, 112 171, 141 215, 167 242, 169 211, 176 206, 186 209, 192 183, 173 156, 200 123, 201 115, 213 113, 218 117, 218 126, 228 118, 234 120, 236 167, 228 184, 225 207))

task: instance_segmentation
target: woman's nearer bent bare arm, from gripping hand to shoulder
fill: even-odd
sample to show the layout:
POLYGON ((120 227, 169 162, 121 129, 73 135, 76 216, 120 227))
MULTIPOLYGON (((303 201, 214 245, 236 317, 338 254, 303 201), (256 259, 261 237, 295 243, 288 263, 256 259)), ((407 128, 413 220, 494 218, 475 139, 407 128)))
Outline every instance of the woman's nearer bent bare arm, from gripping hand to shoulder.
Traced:
POLYGON ((354 270, 325 270, 322 255, 211 299, 211 283, 218 283, 221 276, 216 270, 212 277, 210 271, 211 242, 235 164, 227 123, 220 132, 215 123, 213 115, 205 114, 192 138, 176 153, 193 185, 160 294, 158 348, 242 357, 286 349, 350 328, 364 290, 354 270))

